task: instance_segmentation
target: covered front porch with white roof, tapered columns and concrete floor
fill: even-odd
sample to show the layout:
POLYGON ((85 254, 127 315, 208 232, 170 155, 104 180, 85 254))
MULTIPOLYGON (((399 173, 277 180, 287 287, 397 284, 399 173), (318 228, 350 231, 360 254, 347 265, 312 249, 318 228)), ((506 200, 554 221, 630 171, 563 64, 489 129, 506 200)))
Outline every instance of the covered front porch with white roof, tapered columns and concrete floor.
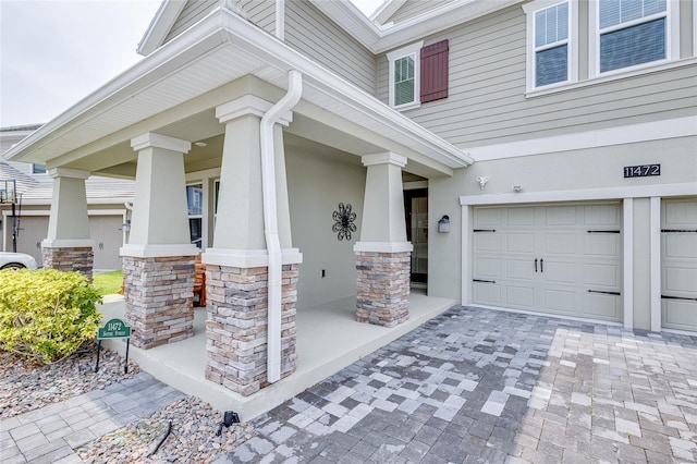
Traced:
POLYGON ((89 260, 85 179, 135 179, 121 248, 132 345, 160 353, 144 354, 147 370, 189 359, 181 377, 205 376, 223 398, 282 401, 338 370, 316 357, 337 340, 348 364, 454 303, 409 294, 402 179, 472 160, 223 3, 11 157, 57 180, 42 244, 56 267, 89 260), (205 333, 193 308, 199 254, 205 333), (189 343, 204 355, 189 357, 189 343))

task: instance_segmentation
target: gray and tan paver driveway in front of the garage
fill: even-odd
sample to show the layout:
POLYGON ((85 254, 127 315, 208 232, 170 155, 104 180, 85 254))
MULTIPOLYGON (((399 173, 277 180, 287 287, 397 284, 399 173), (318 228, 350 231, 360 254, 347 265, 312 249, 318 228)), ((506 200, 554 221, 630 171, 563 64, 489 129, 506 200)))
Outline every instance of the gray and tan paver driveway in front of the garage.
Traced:
POLYGON ((697 337, 455 306, 224 462, 697 462, 697 337))

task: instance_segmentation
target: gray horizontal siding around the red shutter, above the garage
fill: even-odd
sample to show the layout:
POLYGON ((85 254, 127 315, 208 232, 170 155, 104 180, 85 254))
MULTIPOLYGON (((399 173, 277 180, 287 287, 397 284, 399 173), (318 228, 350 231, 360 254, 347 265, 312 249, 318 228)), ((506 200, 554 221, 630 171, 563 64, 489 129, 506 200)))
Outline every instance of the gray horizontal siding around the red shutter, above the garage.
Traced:
MULTIPOLYGON (((515 142, 695 114, 696 68, 525 97, 525 14, 512 7, 428 37, 450 39, 450 96, 405 114, 461 147, 515 142)), ((378 58, 378 98, 388 101, 378 58)))

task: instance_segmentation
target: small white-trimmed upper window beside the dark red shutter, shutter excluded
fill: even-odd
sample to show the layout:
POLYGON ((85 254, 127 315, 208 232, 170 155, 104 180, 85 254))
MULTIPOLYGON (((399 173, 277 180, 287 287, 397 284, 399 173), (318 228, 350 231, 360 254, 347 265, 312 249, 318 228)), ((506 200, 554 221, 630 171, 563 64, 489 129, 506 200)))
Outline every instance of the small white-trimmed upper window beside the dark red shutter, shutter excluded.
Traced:
POLYGON ((420 105, 420 50, 423 41, 389 52, 390 106, 398 109, 420 105))

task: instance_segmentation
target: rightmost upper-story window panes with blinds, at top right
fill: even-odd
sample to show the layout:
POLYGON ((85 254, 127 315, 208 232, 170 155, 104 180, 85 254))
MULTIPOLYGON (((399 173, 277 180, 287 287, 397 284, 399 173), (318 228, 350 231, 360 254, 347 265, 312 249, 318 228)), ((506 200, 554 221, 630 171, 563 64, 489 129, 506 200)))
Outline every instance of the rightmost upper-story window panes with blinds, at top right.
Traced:
POLYGON ((600 73, 668 58, 667 0, 598 2, 600 73))

